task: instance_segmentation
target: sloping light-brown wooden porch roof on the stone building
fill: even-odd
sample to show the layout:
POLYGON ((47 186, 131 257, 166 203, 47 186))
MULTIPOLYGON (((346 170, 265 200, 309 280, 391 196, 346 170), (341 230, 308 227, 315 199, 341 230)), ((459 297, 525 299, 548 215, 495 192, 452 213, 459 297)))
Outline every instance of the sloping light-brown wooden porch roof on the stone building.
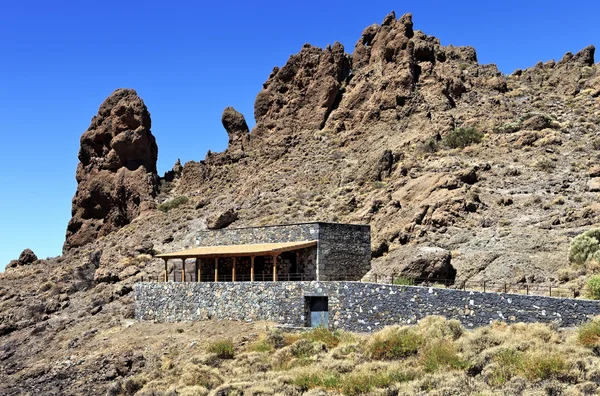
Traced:
POLYGON ((196 258, 196 257, 240 257, 240 256, 270 256, 292 250, 315 246, 317 241, 257 243, 248 245, 202 246, 180 252, 157 254, 163 259, 196 258))

